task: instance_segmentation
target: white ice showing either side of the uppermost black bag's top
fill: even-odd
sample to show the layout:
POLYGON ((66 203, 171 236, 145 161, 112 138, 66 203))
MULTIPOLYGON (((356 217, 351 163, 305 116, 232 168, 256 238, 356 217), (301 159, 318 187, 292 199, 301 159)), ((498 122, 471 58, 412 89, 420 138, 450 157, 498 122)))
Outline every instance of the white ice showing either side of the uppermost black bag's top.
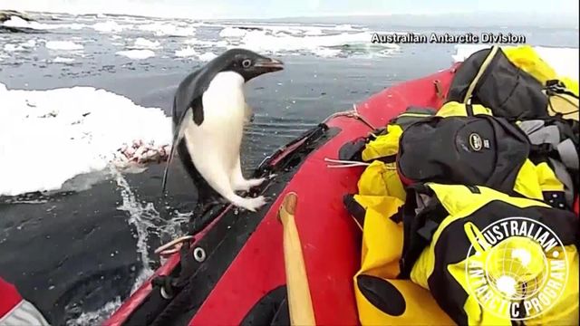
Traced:
MULTIPOLYGON (((463 62, 472 53, 488 48, 484 44, 459 44, 455 45, 455 54, 452 55, 454 62, 463 62)), ((534 46, 537 54, 549 64, 559 76, 566 76, 578 80, 578 48, 534 46)))

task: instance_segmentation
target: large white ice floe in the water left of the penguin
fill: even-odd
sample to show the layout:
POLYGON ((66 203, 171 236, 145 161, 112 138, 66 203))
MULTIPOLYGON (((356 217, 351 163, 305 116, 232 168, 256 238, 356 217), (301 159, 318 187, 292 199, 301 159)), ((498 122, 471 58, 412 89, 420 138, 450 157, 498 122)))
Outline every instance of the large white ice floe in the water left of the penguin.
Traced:
POLYGON ((100 171, 119 149, 140 140, 131 155, 167 149, 169 117, 110 91, 92 87, 7 90, 0 83, 0 195, 60 189, 81 174, 100 171))

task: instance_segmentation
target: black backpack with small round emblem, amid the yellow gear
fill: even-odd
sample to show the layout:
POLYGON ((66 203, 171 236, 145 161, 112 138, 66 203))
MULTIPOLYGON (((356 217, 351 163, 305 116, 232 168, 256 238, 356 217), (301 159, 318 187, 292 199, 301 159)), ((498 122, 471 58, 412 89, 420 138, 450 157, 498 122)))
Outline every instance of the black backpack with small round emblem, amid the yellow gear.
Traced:
POLYGON ((523 130, 507 120, 487 114, 434 116, 402 133, 396 161, 406 185, 486 186, 513 194, 529 149, 523 130))

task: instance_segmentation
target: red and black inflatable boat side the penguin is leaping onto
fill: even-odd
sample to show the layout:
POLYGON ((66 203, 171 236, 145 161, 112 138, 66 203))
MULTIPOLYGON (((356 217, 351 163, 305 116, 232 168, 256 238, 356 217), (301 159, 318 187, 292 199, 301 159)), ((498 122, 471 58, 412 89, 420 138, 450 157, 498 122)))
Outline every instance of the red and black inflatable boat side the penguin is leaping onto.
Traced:
POLYGON ((104 324, 289 324, 296 309, 305 310, 295 324, 359 324, 361 230, 343 196, 356 192, 363 168, 329 168, 329 158, 411 105, 439 108, 456 68, 374 94, 276 150, 255 170, 275 174, 256 189, 270 202, 256 213, 222 205, 198 217, 184 245, 104 324), (287 200, 289 222, 279 218, 287 200))

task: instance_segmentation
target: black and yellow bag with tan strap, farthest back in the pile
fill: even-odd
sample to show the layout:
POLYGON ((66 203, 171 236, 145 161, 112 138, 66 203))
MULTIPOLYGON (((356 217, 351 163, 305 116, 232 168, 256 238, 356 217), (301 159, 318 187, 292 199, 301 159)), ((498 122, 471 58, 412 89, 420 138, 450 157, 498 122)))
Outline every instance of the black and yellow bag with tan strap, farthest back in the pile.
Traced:
POLYGON ((473 53, 455 73, 448 101, 483 104, 497 117, 578 121, 578 82, 558 76, 529 46, 473 53))

